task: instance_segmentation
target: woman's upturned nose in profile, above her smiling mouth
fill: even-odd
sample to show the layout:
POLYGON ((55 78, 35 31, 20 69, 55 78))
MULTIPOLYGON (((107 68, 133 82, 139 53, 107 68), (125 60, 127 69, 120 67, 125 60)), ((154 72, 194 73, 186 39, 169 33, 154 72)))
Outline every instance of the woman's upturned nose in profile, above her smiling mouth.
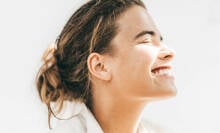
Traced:
POLYGON ((173 49, 170 49, 167 47, 167 45, 163 45, 163 47, 161 47, 160 52, 159 52, 159 59, 160 60, 172 60, 175 56, 175 51, 173 49))

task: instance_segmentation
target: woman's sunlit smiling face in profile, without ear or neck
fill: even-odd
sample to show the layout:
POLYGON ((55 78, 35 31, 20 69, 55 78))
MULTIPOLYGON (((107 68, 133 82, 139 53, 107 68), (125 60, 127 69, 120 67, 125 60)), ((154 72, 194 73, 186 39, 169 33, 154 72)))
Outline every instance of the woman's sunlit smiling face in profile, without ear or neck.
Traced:
POLYGON ((176 94, 171 60, 174 53, 162 41, 146 9, 133 6, 116 24, 111 41, 113 94, 121 98, 163 98, 176 94))

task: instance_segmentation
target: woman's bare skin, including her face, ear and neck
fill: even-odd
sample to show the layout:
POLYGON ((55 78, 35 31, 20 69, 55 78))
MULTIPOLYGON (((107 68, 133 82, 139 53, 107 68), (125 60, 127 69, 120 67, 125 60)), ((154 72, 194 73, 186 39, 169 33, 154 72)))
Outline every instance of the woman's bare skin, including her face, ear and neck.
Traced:
POLYGON ((105 133, 137 133, 145 105, 176 94, 174 78, 166 73, 174 52, 161 42, 151 17, 140 6, 125 11, 117 24, 119 32, 111 41, 114 55, 92 53, 87 60, 92 112, 105 133), (151 32, 137 37, 142 31, 151 32))

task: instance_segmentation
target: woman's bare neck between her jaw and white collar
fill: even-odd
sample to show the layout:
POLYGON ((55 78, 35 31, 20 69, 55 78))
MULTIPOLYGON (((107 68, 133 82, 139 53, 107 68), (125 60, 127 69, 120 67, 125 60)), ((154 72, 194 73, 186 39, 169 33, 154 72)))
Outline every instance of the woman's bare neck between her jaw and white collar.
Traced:
POLYGON ((137 133, 145 103, 94 93, 92 112, 105 133, 137 133))

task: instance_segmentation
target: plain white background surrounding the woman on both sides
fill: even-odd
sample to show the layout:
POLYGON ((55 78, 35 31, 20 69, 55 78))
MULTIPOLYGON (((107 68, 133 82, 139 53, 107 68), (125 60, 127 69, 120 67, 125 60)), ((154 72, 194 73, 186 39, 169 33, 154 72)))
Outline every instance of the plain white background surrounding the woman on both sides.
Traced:
MULTIPOLYGON (((34 78, 40 58, 79 0, 0 1, 0 132, 45 133, 47 111, 34 78)), ((165 43, 175 49, 178 95, 145 117, 186 133, 220 132, 220 1, 147 0, 165 43)))

